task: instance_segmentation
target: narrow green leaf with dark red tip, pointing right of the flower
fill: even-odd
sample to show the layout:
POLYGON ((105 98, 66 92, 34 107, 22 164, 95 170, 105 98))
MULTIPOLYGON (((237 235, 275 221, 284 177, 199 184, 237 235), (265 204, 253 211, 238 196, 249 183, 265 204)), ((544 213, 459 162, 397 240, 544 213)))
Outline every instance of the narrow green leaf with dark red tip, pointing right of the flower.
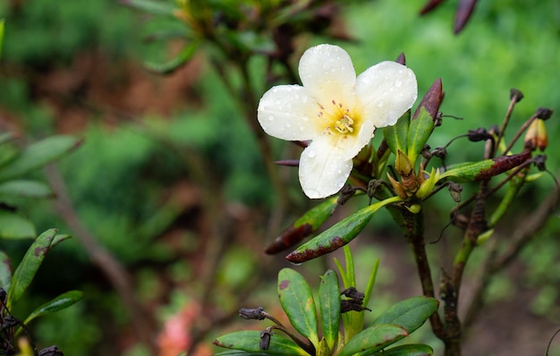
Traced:
POLYGON ((447 171, 440 174, 439 179, 441 181, 442 179, 453 177, 453 181, 458 182, 484 181, 497 174, 503 174, 516 166, 522 165, 529 158, 530 151, 526 151, 519 155, 500 156, 479 162, 452 165, 447 171))

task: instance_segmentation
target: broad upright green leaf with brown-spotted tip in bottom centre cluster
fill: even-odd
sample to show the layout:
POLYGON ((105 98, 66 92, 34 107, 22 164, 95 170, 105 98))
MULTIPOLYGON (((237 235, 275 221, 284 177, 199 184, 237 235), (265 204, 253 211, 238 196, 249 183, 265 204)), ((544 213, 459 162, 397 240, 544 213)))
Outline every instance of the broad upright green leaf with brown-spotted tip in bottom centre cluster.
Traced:
POLYGON ((278 297, 292 326, 318 348, 317 309, 310 284, 292 268, 278 273, 278 297))

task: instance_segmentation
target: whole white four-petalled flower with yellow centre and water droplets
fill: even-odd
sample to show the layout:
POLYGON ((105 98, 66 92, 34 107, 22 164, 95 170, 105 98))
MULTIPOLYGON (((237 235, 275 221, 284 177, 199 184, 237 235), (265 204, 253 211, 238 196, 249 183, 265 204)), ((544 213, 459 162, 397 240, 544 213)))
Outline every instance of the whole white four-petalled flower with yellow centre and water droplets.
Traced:
POLYGON ((395 124, 416 100, 412 70, 395 62, 369 67, 356 78, 350 56, 332 45, 301 56, 300 85, 269 89, 259 102, 259 123, 282 140, 311 140, 300 158, 300 182, 310 198, 340 191, 352 158, 376 128, 395 124))

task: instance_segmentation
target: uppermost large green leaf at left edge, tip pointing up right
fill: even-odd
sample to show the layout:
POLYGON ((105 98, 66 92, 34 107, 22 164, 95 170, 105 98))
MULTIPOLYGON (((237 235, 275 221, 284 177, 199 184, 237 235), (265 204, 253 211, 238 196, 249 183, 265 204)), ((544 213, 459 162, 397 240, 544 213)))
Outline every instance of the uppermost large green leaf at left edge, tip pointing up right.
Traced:
POLYGON ((78 147, 81 140, 72 136, 53 136, 24 148, 18 157, 0 171, 0 181, 7 181, 27 174, 63 157, 78 147))

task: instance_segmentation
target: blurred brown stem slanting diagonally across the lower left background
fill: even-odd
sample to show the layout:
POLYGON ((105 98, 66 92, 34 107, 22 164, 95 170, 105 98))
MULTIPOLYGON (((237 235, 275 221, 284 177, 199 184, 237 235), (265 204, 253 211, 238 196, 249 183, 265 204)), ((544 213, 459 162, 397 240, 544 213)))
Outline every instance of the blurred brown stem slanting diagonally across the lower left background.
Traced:
POLYGON ((155 321, 150 318, 148 312, 136 300, 130 276, 113 255, 98 244, 96 237, 83 225, 80 216, 72 207, 64 179, 55 168, 55 165, 47 165, 46 174, 48 182, 57 197, 55 208, 58 214, 60 214, 66 225, 72 230, 73 236, 81 242, 84 250, 89 255, 89 259, 91 259, 94 265, 98 266, 109 282, 115 287, 115 291, 123 301, 124 308, 128 309, 131 315, 132 328, 138 340, 148 345, 152 352, 155 352, 155 321))

